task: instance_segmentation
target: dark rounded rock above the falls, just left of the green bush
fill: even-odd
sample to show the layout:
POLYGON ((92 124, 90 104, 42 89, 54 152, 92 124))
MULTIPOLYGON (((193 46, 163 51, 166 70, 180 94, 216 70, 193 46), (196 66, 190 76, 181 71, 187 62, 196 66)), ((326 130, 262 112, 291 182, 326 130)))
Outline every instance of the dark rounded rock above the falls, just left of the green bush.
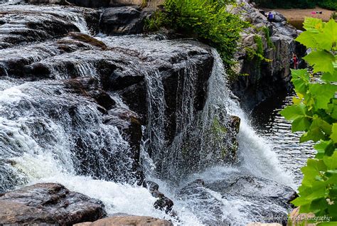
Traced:
POLYGON ((142 33, 144 21, 150 15, 149 11, 134 6, 108 8, 101 16, 100 31, 107 35, 142 33))

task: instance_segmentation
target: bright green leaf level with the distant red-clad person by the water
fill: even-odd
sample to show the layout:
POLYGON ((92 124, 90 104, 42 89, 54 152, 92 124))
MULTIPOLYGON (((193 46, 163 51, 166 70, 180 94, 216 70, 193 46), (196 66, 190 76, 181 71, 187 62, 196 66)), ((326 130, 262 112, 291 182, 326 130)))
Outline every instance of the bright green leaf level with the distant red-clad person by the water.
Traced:
POLYGON ((304 57, 304 60, 310 65, 314 65, 314 73, 316 72, 329 72, 333 74, 333 62, 335 56, 326 51, 313 51, 304 57))

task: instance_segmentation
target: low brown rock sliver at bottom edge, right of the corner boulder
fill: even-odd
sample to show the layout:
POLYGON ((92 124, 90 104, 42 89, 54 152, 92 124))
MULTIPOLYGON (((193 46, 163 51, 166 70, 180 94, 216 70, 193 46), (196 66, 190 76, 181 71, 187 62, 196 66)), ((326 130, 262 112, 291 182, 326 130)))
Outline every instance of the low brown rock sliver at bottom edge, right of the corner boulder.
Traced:
POLYGON ((119 226, 119 225, 135 225, 135 226, 173 226, 167 220, 160 220, 154 217, 141 217, 141 216, 119 216, 107 217, 105 219, 97 220, 95 222, 84 222, 75 226, 119 226))

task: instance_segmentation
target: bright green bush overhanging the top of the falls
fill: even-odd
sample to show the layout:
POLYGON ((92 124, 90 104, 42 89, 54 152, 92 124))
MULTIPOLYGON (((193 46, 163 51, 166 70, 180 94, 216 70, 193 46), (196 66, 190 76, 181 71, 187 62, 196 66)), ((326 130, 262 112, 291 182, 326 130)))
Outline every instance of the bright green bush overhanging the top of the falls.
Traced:
MULTIPOLYGON (((147 23, 149 31, 171 28, 184 36, 197 38, 218 50, 225 65, 233 63, 237 41, 248 23, 231 14, 233 0, 166 0, 164 10, 157 11, 147 23)), ((229 67, 228 67, 229 68, 229 67)))

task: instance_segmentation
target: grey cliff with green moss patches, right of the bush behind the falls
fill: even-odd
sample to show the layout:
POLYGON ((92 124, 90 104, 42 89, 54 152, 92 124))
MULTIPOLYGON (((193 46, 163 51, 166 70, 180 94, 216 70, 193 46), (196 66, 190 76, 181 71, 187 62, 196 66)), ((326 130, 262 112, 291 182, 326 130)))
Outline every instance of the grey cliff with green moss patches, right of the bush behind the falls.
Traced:
POLYGON ((252 4, 240 3, 242 6, 235 12, 242 14, 252 26, 242 33, 240 51, 236 54, 239 63, 234 68, 235 72, 247 76, 232 82, 232 90, 244 107, 252 109, 263 99, 291 87, 290 59, 293 53, 301 56, 305 50, 294 41, 298 32, 284 16, 274 12, 275 20, 270 22, 252 4), (259 51, 264 59, 255 54, 259 51))

